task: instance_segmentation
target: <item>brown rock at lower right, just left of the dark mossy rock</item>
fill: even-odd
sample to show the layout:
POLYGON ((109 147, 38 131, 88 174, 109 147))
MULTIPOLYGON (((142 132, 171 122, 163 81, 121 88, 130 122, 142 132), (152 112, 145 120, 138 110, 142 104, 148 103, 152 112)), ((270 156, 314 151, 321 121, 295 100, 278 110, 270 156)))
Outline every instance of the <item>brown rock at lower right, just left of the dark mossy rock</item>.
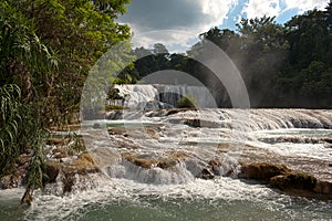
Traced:
POLYGON ((239 177, 245 179, 258 179, 269 181, 270 178, 279 175, 284 175, 287 172, 290 172, 290 169, 288 169, 283 165, 280 166, 262 162, 242 166, 239 177))

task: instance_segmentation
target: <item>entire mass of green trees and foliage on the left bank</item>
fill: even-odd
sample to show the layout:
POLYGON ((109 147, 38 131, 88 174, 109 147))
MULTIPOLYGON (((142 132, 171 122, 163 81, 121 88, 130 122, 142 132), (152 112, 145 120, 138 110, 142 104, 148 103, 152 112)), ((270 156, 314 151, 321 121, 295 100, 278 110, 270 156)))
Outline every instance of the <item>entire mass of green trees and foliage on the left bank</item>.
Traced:
MULTIPOLYGON (((33 190, 42 187, 45 128, 73 120, 91 66, 110 46, 129 38, 129 28, 114 21, 125 3, 0 2, 0 178, 20 154, 32 152, 22 202, 30 203, 33 190)), ((116 70, 125 66, 112 57, 107 62, 120 64, 116 70)))

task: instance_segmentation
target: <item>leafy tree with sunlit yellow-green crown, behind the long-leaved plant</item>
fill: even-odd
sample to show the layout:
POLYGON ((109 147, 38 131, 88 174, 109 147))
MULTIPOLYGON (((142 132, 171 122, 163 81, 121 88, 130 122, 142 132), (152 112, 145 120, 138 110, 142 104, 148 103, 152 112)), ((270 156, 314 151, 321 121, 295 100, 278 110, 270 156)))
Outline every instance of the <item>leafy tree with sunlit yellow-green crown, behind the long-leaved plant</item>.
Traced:
POLYGON ((125 12, 129 0, 38 0, 12 1, 28 19, 37 35, 59 56, 59 69, 46 85, 43 114, 48 124, 73 120, 90 69, 112 45, 129 38, 129 28, 114 20, 125 12), (59 96, 60 95, 60 96, 59 96))

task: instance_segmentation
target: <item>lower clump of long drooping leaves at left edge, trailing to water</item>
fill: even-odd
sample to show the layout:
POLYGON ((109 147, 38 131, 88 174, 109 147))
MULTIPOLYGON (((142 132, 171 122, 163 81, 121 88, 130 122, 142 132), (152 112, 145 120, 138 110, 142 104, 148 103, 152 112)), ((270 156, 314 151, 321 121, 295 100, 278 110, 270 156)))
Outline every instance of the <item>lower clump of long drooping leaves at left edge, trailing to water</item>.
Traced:
POLYGON ((32 151, 25 193, 22 202, 30 203, 34 188, 42 187, 44 130, 31 113, 31 107, 21 103, 21 91, 17 85, 0 87, 0 177, 11 172, 19 155, 32 151))

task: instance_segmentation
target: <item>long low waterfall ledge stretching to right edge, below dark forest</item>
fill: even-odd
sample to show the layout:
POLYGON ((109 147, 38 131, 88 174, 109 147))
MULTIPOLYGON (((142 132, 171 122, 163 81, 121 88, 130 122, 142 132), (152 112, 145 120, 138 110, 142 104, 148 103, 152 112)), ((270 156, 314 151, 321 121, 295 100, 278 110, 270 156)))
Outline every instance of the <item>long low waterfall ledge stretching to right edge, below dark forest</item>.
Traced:
POLYGON ((324 109, 186 110, 173 114, 165 120, 193 127, 234 129, 235 126, 240 126, 246 131, 287 128, 332 128, 332 113, 324 109))

